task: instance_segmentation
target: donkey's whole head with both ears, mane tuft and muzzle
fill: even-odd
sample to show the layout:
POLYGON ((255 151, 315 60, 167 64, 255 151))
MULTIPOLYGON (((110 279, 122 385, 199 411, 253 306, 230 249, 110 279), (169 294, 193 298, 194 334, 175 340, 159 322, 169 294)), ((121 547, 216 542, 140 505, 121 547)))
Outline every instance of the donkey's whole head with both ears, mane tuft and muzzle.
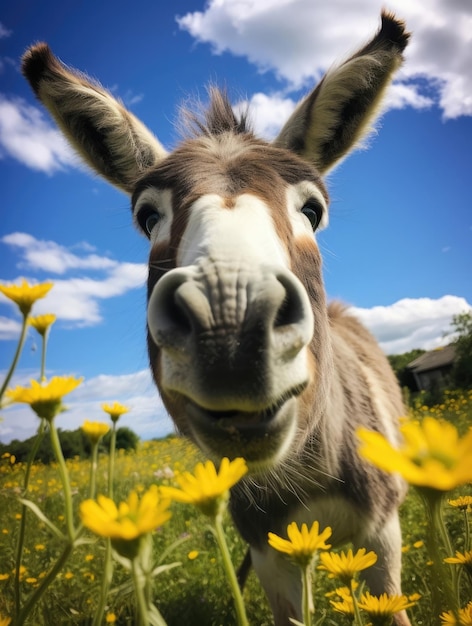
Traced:
POLYGON ((408 35, 388 14, 330 71, 272 143, 213 90, 197 133, 168 154, 100 86, 45 44, 24 56, 34 91, 85 161, 132 197, 151 244, 148 347, 181 431, 214 457, 263 467, 326 402, 330 343, 313 231, 321 180, 369 131, 408 35))

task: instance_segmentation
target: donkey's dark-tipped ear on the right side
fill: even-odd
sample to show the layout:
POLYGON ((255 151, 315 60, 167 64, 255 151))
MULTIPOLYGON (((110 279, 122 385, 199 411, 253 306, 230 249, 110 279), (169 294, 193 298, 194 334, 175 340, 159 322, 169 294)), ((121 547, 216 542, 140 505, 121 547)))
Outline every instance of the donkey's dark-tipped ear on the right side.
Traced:
POLYGON ((375 37, 324 76, 292 113, 275 144, 326 173, 371 131, 409 37, 403 22, 382 12, 375 37))

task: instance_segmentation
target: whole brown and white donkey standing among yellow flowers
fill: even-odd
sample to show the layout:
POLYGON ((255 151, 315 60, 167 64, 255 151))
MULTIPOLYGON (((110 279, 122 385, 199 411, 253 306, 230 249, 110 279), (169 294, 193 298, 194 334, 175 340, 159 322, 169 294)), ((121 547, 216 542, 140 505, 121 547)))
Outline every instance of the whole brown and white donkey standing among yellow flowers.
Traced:
MULTIPOLYGON (((23 57, 72 146, 131 196, 150 240, 154 380, 182 434, 217 461, 248 462, 230 508, 276 626, 301 619, 301 584, 267 533, 283 535, 293 520, 331 526, 335 545, 374 550, 371 592, 401 593, 405 488, 358 458, 355 437, 364 425, 397 443, 401 394, 369 332, 327 305, 313 233, 328 222, 322 176, 369 133, 408 39, 383 12, 369 43, 324 76, 270 143, 212 89, 171 153, 46 44, 23 57)), ((405 613, 395 619, 410 624, 405 613)))

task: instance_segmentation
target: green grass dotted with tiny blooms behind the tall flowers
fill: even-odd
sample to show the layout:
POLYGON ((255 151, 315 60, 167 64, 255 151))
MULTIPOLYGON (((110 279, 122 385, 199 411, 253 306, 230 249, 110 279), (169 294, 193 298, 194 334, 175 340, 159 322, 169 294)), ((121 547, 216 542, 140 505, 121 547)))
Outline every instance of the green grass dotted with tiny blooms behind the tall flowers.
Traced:
MULTIPOLYGON (((412 413, 414 417, 430 414, 448 419, 463 433, 472 423, 472 392, 450 392, 446 394, 441 405, 427 408, 417 404, 412 413)), ((60 420, 60 416, 57 419, 60 420)), ((144 492, 153 483, 172 484, 172 477, 176 472, 193 470, 199 460, 202 460, 200 452, 194 446, 173 437, 144 442, 135 453, 119 453, 115 466, 115 500, 126 499, 132 489, 144 492)), ((79 502, 88 497, 89 461, 76 458, 67 461, 67 467, 77 512, 79 502)), ((13 573, 21 517, 18 496, 22 491, 23 475, 24 464, 12 462, 6 455, 0 459, 0 616, 13 612, 13 573)), ((106 493, 106 485, 107 458, 102 456, 97 472, 97 492, 106 493)), ((472 495, 470 485, 458 493, 472 495)), ((456 495, 448 494, 449 497, 456 495)), ((33 465, 28 498, 59 527, 64 525, 63 496, 54 464, 33 465)), ((161 613, 168 626, 232 626, 236 623, 233 601, 214 537, 206 526, 205 518, 191 506, 174 504, 172 511, 170 522, 153 535, 156 561, 162 559, 163 563, 180 563, 178 567, 155 579, 154 597, 161 613)), ((448 507, 446 520, 454 549, 464 550, 462 518, 459 512, 448 507)), ((421 503, 413 490, 410 490, 402 506, 401 521, 404 541, 404 593, 421 595, 418 604, 411 610, 411 616, 418 626, 433 626, 438 622, 437 617, 431 614, 431 567, 424 545, 425 522, 421 503)), ((229 517, 226 517, 225 523, 232 560, 238 565, 243 559, 246 546, 239 539, 229 517)), ((104 543, 90 535, 85 536, 87 542, 76 548, 41 603, 35 607, 29 624, 91 624, 99 595, 104 543)), ((21 572, 24 597, 45 576, 59 551, 59 540, 29 511, 22 564, 24 569, 21 572)), ((114 615, 117 624, 133 624, 134 620, 134 600, 128 576, 128 572, 119 564, 115 565, 107 614, 110 620, 114 615)), ((340 626, 345 619, 331 610, 329 598, 325 595, 336 586, 336 581, 328 579, 324 574, 320 573, 316 577, 317 608, 326 613, 323 622, 326 625, 340 626)), ((272 624, 267 601, 254 573, 249 576, 244 599, 251 624, 272 624)), ((470 600, 470 597, 467 599, 470 600)))

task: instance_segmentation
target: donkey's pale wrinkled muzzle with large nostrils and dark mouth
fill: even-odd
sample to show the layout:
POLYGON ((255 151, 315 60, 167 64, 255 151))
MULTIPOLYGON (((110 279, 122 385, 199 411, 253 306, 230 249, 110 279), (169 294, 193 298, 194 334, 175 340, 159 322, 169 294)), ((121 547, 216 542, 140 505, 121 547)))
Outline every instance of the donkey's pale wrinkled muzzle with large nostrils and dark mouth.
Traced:
POLYGON ((148 328, 164 393, 188 402, 191 428, 270 430, 271 415, 307 385, 313 313, 284 268, 205 266, 169 271, 154 286, 148 328))

